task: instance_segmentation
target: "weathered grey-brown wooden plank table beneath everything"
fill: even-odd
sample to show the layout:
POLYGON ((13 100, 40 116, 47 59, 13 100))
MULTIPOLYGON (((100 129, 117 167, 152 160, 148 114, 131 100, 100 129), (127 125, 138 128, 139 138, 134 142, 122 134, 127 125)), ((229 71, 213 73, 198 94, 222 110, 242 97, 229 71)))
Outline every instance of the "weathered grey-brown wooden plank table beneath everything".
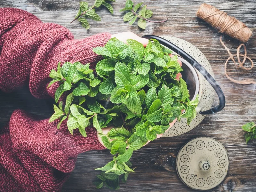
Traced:
MULTIPOLYGON (((93 0, 88 1, 89 4, 93 0)), ((141 1, 135 0, 134 3, 141 1)), ((212 137, 224 145, 228 151, 230 166, 225 180, 210 191, 256 191, 256 140, 245 145, 244 131, 241 126, 249 121, 256 121, 255 85, 239 85, 230 82, 224 74, 224 63, 228 54, 220 45, 220 33, 204 21, 196 18, 196 10, 202 3, 214 5, 222 11, 243 21, 249 28, 256 27, 256 1, 198 1, 198 0, 145 0, 148 9, 154 11, 152 20, 169 18, 165 23, 147 23, 145 30, 136 24, 130 26, 123 22, 124 0, 111 3, 114 14, 106 9, 97 11, 101 21, 89 21, 90 29, 85 30, 78 21, 70 24, 79 7, 79 0, 0 0, 0 7, 16 7, 27 10, 43 22, 53 22, 70 29, 75 38, 84 38, 99 32, 112 34, 132 31, 140 36, 146 34, 175 36, 182 38, 199 48, 212 65, 215 79, 219 82, 226 96, 226 107, 215 115, 208 115, 196 128, 183 135, 161 138, 150 142, 144 148, 134 151, 131 161, 137 166, 136 173, 130 174, 126 184, 120 184, 120 191, 195 191, 188 188, 179 179, 175 170, 175 159, 179 149, 188 140, 200 136, 212 137)), ((10 13, 11 14, 11 13, 10 13)), ((248 56, 256 61, 256 36, 247 43, 248 56)), ((224 36, 224 42, 231 52, 236 53, 239 42, 224 36)), ((248 64, 249 65, 249 64, 248 64)), ((255 78, 252 71, 236 69, 229 64, 231 76, 241 79, 245 76, 255 78)), ((28 88, 12 94, 0 92, 0 127, 9 121, 16 108, 50 117, 53 100, 38 100, 31 96, 28 88)), ((213 105, 218 103, 215 95, 213 105)), ((97 171, 94 168, 105 165, 112 158, 108 150, 90 151, 80 154, 75 170, 63 186, 63 192, 109 191, 107 188, 95 189, 92 181, 97 171)))

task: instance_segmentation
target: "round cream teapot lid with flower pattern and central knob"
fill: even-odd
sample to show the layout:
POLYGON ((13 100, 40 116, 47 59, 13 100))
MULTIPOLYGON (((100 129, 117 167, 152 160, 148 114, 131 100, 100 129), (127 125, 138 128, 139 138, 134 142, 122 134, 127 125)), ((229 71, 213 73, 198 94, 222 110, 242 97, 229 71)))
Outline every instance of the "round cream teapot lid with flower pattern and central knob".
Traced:
POLYGON ((228 173, 228 153, 219 141, 198 137, 188 141, 176 158, 176 170, 188 187, 209 190, 218 186, 228 173))

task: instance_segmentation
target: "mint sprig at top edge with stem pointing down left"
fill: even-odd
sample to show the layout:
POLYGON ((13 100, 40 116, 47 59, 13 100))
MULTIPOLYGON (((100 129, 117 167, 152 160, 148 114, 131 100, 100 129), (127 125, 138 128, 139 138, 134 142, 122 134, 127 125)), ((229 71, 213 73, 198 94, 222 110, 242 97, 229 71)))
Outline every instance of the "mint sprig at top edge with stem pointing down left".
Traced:
MULTIPOLYGON (((100 16, 95 13, 95 8, 99 8, 101 5, 105 6, 108 11, 113 14, 113 7, 111 6, 111 4, 107 3, 106 1, 113 1, 115 2, 115 0, 95 0, 94 4, 91 7, 88 7, 88 3, 81 1, 80 2, 80 8, 76 14, 76 17, 73 21, 75 20, 79 20, 82 24, 82 26, 87 30, 90 28, 89 22, 87 21, 88 18, 95 20, 95 21, 100 21, 100 16), (81 17, 83 16, 83 17, 81 17)), ((73 21, 71 21, 70 23, 72 23, 73 21)))

